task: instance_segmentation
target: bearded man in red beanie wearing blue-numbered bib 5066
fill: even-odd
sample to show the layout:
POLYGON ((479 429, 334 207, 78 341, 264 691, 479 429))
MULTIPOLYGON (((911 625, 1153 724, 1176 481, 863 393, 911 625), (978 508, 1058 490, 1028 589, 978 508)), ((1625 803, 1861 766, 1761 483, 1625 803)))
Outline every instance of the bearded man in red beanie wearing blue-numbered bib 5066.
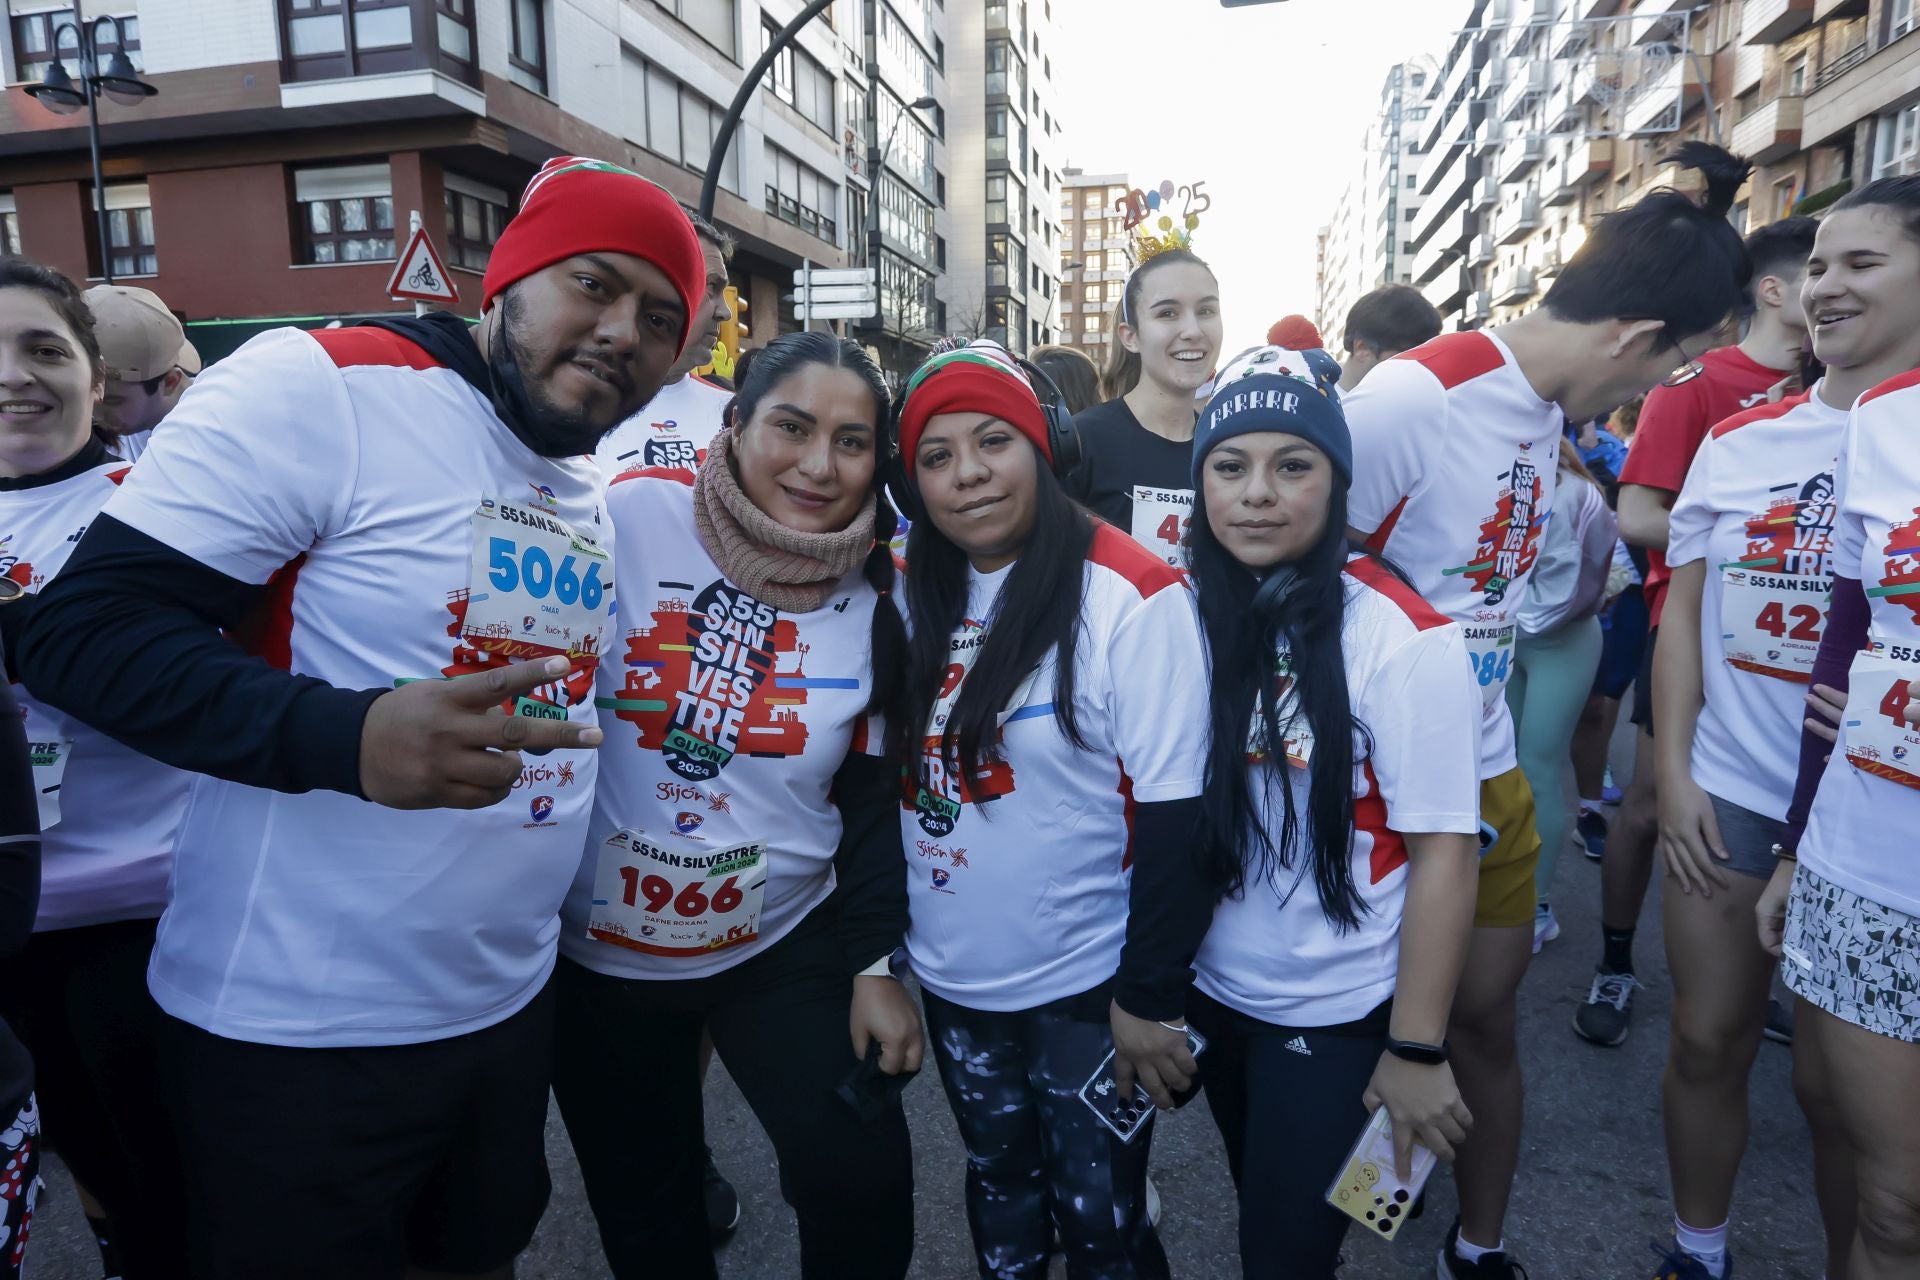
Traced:
POLYGON ((252 340, 35 603, 35 695, 202 773, 148 969, 190 1274, 505 1276, 532 1238, 612 614, 588 455, 703 288, 664 190, 551 161, 478 328, 252 340))

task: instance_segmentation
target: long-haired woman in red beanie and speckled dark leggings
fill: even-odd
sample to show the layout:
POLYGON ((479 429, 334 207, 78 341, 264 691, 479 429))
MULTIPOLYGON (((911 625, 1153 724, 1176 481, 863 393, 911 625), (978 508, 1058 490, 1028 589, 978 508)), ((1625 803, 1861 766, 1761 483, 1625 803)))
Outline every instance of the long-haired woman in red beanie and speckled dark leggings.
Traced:
POLYGON ((1135 1080, 1171 1105, 1194 1075, 1206 660, 1179 570, 1060 487, 1071 432, 1048 416, 983 342, 922 365, 900 409, 895 493, 924 509, 891 722, 906 952, 968 1150, 979 1274, 1046 1276, 1058 1226, 1071 1280, 1154 1280, 1135 1080))

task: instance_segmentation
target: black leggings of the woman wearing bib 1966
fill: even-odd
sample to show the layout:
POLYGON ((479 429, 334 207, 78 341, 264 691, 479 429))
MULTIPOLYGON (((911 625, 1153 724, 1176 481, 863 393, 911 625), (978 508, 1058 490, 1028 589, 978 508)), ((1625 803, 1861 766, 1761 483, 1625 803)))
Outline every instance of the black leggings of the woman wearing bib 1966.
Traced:
POLYGON ((818 908, 705 979, 632 981, 561 958, 553 1096, 620 1280, 718 1276, 701 1176, 701 1032, 780 1157, 806 1280, 899 1280, 914 1255, 906 1113, 864 1125, 835 1088, 858 1067, 852 977, 818 908))

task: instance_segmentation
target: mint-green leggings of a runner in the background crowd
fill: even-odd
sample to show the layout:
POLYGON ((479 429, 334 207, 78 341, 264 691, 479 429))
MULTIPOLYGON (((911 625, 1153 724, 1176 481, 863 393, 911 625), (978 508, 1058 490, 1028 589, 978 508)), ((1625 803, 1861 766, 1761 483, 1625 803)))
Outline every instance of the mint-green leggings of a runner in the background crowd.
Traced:
POLYGON ((1534 789, 1540 825, 1540 865, 1534 889, 1546 902, 1553 889, 1553 867, 1567 842, 1572 814, 1567 808, 1567 768, 1572 760, 1572 731, 1580 708, 1594 691, 1599 670, 1599 618, 1580 618, 1546 635, 1519 637, 1513 649, 1513 679, 1507 681, 1507 710, 1521 752, 1521 771, 1534 789))

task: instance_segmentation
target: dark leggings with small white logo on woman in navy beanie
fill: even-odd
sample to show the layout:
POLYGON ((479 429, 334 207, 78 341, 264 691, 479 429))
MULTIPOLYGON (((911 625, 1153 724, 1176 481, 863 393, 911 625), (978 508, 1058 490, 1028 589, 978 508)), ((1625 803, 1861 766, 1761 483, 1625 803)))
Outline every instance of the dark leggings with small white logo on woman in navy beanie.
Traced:
POLYGON ((1332 1276, 1354 1219, 1327 1203, 1327 1188, 1367 1126, 1361 1094, 1384 1031, 1273 1027, 1198 990, 1188 1015, 1208 1038, 1200 1082, 1240 1194, 1240 1270, 1246 1280, 1332 1276))

